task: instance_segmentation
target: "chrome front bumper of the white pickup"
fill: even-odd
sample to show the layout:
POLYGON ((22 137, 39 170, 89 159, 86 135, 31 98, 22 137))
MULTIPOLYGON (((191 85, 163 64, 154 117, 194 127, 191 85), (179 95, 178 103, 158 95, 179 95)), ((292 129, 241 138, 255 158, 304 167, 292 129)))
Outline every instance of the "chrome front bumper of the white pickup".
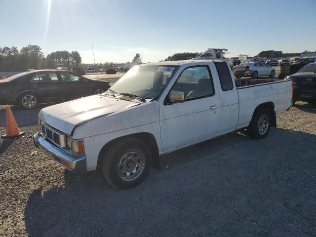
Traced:
POLYGON ((75 174, 84 174, 87 172, 85 156, 74 158, 70 154, 46 141, 40 133, 34 134, 33 140, 36 147, 48 153, 50 158, 54 159, 66 169, 69 169, 75 174))

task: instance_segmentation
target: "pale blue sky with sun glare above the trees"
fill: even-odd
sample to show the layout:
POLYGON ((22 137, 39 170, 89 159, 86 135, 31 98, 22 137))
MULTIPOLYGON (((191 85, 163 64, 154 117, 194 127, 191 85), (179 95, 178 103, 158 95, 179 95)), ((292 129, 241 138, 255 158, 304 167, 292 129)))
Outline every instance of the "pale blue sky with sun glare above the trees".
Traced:
POLYGON ((77 50, 84 63, 143 62, 225 47, 316 51, 316 0, 0 0, 0 46, 77 50))

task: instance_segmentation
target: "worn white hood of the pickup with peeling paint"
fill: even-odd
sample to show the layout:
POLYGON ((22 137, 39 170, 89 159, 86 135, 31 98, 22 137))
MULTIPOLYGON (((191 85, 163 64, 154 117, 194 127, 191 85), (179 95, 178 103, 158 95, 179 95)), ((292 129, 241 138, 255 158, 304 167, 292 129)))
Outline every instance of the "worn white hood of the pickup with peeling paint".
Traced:
POLYGON ((43 108, 40 110, 39 118, 51 127, 71 135, 73 129, 85 121, 139 104, 135 101, 92 95, 43 108))

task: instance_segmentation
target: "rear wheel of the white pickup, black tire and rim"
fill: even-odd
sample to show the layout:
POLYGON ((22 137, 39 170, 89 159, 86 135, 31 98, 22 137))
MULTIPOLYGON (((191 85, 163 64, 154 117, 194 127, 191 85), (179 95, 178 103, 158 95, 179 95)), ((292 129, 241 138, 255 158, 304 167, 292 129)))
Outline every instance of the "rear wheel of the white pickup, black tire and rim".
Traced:
POLYGON ((262 139, 265 138, 271 126, 271 115, 269 110, 265 108, 258 108, 255 110, 254 115, 250 121, 247 128, 248 134, 251 138, 262 139), (263 120, 262 120, 263 119, 263 120), (266 121, 266 126, 264 126, 264 121, 266 121))

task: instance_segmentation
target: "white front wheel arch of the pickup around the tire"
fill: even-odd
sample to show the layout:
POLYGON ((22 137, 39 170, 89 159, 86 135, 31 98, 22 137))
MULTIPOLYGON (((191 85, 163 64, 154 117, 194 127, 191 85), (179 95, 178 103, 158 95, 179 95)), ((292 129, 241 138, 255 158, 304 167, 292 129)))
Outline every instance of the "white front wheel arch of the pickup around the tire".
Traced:
POLYGON ((152 153, 152 166, 156 169, 160 169, 160 162, 159 162, 159 151, 158 151, 158 144, 156 141, 156 138, 153 134, 149 133, 149 132, 140 132, 140 133, 133 133, 133 134, 129 134, 129 135, 125 135, 125 136, 121 136, 118 138, 115 138, 111 141, 109 141, 107 144, 105 144, 98 155, 98 162, 97 162, 97 167, 100 166, 101 164, 101 157, 102 154, 104 154, 104 152, 114 143, 122 140, 122 139, 126 139, 126 138, 137 138, 141 141, 143 141, 144 143, 146 143, 146 145, 149 147, 151 153, 152 153))

